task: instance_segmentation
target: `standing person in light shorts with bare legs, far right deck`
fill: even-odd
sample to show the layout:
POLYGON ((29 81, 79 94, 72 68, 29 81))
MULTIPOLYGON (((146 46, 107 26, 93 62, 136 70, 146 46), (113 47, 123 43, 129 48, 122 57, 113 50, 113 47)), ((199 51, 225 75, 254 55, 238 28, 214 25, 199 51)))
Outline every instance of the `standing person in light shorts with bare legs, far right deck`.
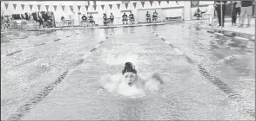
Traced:
POLYGON ((246 20, 247 16, 247 28, 250 27, 250 22, 251 22, 251 16, 253 14, 253 1, 242 1, 241 2, 241 24, 239 25, 239 28, 244 26, 244 22, 246 20))

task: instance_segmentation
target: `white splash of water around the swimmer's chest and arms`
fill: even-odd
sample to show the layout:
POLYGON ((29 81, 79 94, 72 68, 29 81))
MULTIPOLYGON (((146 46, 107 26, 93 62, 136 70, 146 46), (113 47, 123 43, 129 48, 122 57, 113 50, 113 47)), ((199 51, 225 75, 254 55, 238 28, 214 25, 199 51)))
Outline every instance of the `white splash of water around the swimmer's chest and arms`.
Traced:
POLYGON ((107 92, 117 92, 118 94, 131 97, 144 97, 151 93, 161 92, 163 89, 162 80, 157 78, 156 73, 139 73, 138 81, 145 81, 143 86, 128 86, 121 73, 105 74, 98 81, 99 85, 107 92))

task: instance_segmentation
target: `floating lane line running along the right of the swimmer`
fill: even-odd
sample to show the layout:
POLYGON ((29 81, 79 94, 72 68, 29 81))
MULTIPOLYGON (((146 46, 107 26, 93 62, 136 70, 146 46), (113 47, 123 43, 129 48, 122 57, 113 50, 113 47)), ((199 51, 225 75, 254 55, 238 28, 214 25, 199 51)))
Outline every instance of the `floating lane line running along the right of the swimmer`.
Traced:
MULTIPOLYGON (((158 36, 158 38, 160 38, 162 41, 164 41, 167 45, 171 46, 173 48, 173 50, 176 49, 179 52, 181 52, 179 48, 176 48, 171 43, 165 41, 164 38, 162 38, 159 35, 155 34, 152 30, 150 32, 152 32, 153 35, 158 36)), ((207 70, 204 67, 202 67, 196 61, 193 61, 189 56, 187 56, 183 52, 181 52, 180 54, 184 55, 185 56, 185 60, 187 60, 189 63, 197 65, 198 68, 199 68, 199 73, 201 73, 207 80, 210 80, 213 85, 219 87, 219 89, 222 92, 225 92, 229 99, 234 99, 238 103, 244 103, 245 102, 243 97, 238 92, 235 92, 225 82, 223 82, 222 80, 219 80, 219 78, 217 78, 215 76, 212 76, 210 73, 207 72, 207 70)), ((241 106, 242 106, 242 110, 246 111, 246 113, 248 113, 250 116, 255 118, 255 109, 251 110, 251 109, 248 109, 247 107, 245 107, 245 105, 241 105, 241 106)))

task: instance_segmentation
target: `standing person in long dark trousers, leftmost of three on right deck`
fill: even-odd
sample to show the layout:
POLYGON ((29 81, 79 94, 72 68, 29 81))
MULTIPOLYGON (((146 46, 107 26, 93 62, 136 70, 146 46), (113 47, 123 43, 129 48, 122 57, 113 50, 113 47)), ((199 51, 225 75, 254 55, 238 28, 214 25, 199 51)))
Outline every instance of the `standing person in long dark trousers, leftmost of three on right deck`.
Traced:
MULTIPOLYGON (((225 22, 225 13, 226 13, 226 1, 216 1, 215 2, 215 10, 217 11, 217 16, 219 20, 219 27, 222 26, 224 27, 224 22, 225 22), (221 2, 222 2, 222 23, 221 23, 221 2)), ((218 27, 218 28, 219 28, 218 27)))

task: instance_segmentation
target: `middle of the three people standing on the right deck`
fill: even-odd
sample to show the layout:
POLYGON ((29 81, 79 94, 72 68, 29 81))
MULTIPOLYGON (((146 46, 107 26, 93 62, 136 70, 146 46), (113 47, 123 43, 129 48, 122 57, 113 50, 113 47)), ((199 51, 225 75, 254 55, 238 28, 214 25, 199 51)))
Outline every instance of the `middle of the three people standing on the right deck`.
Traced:
POLYGON ((237 16, 238 14, 240 16, 240 13, 241 13, 240 3, 238 1, 234 1, 234 3, 232 4, 232 25, 236 26, 237 16))

